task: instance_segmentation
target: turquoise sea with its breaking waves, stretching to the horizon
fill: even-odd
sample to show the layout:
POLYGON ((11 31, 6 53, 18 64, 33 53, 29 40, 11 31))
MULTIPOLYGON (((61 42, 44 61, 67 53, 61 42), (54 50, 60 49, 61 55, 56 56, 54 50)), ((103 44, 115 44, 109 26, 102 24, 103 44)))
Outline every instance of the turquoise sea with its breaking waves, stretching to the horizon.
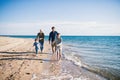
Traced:
POLYGON ((120 36, 62 36, 62 39, 66 59, 108 80, 120 79, 120 36))

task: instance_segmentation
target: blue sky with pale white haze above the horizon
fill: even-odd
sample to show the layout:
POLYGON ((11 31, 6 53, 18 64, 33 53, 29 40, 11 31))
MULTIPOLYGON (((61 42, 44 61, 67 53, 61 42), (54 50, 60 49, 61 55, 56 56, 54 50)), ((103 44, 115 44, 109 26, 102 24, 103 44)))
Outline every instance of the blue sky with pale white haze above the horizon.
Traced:
POLYGON ((120 0, 0 0, 0 35, 120 35, 120 0))

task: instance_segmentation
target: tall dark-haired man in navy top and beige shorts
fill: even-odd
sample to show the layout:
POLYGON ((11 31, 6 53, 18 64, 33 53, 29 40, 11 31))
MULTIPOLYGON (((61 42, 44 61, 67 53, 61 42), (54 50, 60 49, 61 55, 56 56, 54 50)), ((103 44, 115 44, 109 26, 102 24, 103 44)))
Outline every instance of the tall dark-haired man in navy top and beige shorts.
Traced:
POLYGON ((49 44, 51 43, 51 46, 52 46, 52 52, 55 53, 55 49, 56 49, 56 46, 55 46, 55 38, 57 36, 57 31, 55 31, 55 27, 53 26, 52 28, 52 31, 50 32, 49 34, 49 44))

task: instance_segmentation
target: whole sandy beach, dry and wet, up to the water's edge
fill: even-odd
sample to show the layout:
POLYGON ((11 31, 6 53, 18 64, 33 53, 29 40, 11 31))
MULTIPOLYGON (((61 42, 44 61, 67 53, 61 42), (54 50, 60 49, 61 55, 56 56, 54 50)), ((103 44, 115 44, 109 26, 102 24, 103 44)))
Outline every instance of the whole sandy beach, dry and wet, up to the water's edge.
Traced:
POLYGON ((64 58, 57 61, 47 41, 35 56, 33 42, 0 37, 0 80, 104 80, 64 58))

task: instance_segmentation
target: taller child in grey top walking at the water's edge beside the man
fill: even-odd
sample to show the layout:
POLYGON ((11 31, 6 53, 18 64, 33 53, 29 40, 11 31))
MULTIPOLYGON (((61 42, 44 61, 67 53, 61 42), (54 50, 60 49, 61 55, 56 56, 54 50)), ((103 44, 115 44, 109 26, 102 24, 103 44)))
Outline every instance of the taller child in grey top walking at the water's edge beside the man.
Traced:
POLYGON ((62 39, 60 37, 60 33, 57 33, 57 36, 55 39, 55 45, 56 45, 56 52, 57 52, 57 60, 60 60, 62 56, 62 39))

